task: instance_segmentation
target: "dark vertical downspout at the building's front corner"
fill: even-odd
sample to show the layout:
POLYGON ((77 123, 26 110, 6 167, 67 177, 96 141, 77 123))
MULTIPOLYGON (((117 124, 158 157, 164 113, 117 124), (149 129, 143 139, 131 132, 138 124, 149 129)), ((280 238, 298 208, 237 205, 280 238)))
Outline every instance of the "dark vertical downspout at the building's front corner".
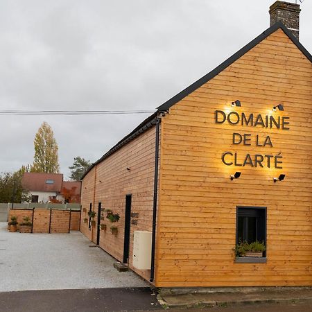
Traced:
POLYGON ((150 261, 150 282, 154 281, 154 275, 155 275, 155 242, 156 242, 157 189, 158 189, 158 163, 159 163, 159 128, 160 128, 159 125, 160 125, 160 119, 157 118, 156 137, 155 137, 155 175, 154 175, 152 258, 150 261))

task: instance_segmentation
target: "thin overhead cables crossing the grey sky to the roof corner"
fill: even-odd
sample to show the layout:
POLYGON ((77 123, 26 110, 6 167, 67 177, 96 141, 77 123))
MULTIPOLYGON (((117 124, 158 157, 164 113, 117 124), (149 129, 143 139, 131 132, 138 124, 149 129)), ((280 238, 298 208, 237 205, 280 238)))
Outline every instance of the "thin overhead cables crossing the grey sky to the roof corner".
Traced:
POLYGON ((151 114, 153 110, 0 110, 0 115, 14 116, 82 116, 104 114, 151 114))

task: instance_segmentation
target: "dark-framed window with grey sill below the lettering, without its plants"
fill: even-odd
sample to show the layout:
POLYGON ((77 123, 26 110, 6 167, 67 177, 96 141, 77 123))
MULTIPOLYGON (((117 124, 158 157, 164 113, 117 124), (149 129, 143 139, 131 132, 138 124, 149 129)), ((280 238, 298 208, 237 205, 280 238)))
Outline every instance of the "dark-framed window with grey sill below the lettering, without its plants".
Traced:
MULTIPOLYGON (((266 207, 236 208, 236 244, 243 241, 266 245, 266 207)), ((263 257, 236 257, 235 262, 266 263, 266 252, 263 257)))

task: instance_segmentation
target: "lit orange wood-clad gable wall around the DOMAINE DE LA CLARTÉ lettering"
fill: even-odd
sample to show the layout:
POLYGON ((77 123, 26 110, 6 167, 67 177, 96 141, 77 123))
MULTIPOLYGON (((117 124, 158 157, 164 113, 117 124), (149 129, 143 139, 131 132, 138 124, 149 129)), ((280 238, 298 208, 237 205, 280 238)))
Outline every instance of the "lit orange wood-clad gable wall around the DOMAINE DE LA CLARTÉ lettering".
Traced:
POLYGON ((311 62, 280 29, 171 107, 162 119, 156 286, 312 285, 311 118, 311 62), (242 106, 231 107, 237 99, 242 106), (279 103, 284 112, 273 113, 279 103), (216 110, 289 116, 290 130, 216 124, 216 110), (269 135, 272 147, 234 145, 233 132, 269 135), (283 168, 225 166, 228 150, 281 153, 283 168), (236 206, 267 207, 267 263, 234 262, 236 206))

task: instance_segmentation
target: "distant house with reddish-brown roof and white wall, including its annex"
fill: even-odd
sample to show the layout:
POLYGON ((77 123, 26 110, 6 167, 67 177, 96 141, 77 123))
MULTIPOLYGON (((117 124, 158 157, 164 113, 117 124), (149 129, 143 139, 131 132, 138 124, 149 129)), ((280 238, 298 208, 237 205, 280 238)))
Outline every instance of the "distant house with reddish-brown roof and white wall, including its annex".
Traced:
POLYGON ((24 173, 21 184, 31 202, 80 202, 80 182, 63 181, 61 173, 24 173))

